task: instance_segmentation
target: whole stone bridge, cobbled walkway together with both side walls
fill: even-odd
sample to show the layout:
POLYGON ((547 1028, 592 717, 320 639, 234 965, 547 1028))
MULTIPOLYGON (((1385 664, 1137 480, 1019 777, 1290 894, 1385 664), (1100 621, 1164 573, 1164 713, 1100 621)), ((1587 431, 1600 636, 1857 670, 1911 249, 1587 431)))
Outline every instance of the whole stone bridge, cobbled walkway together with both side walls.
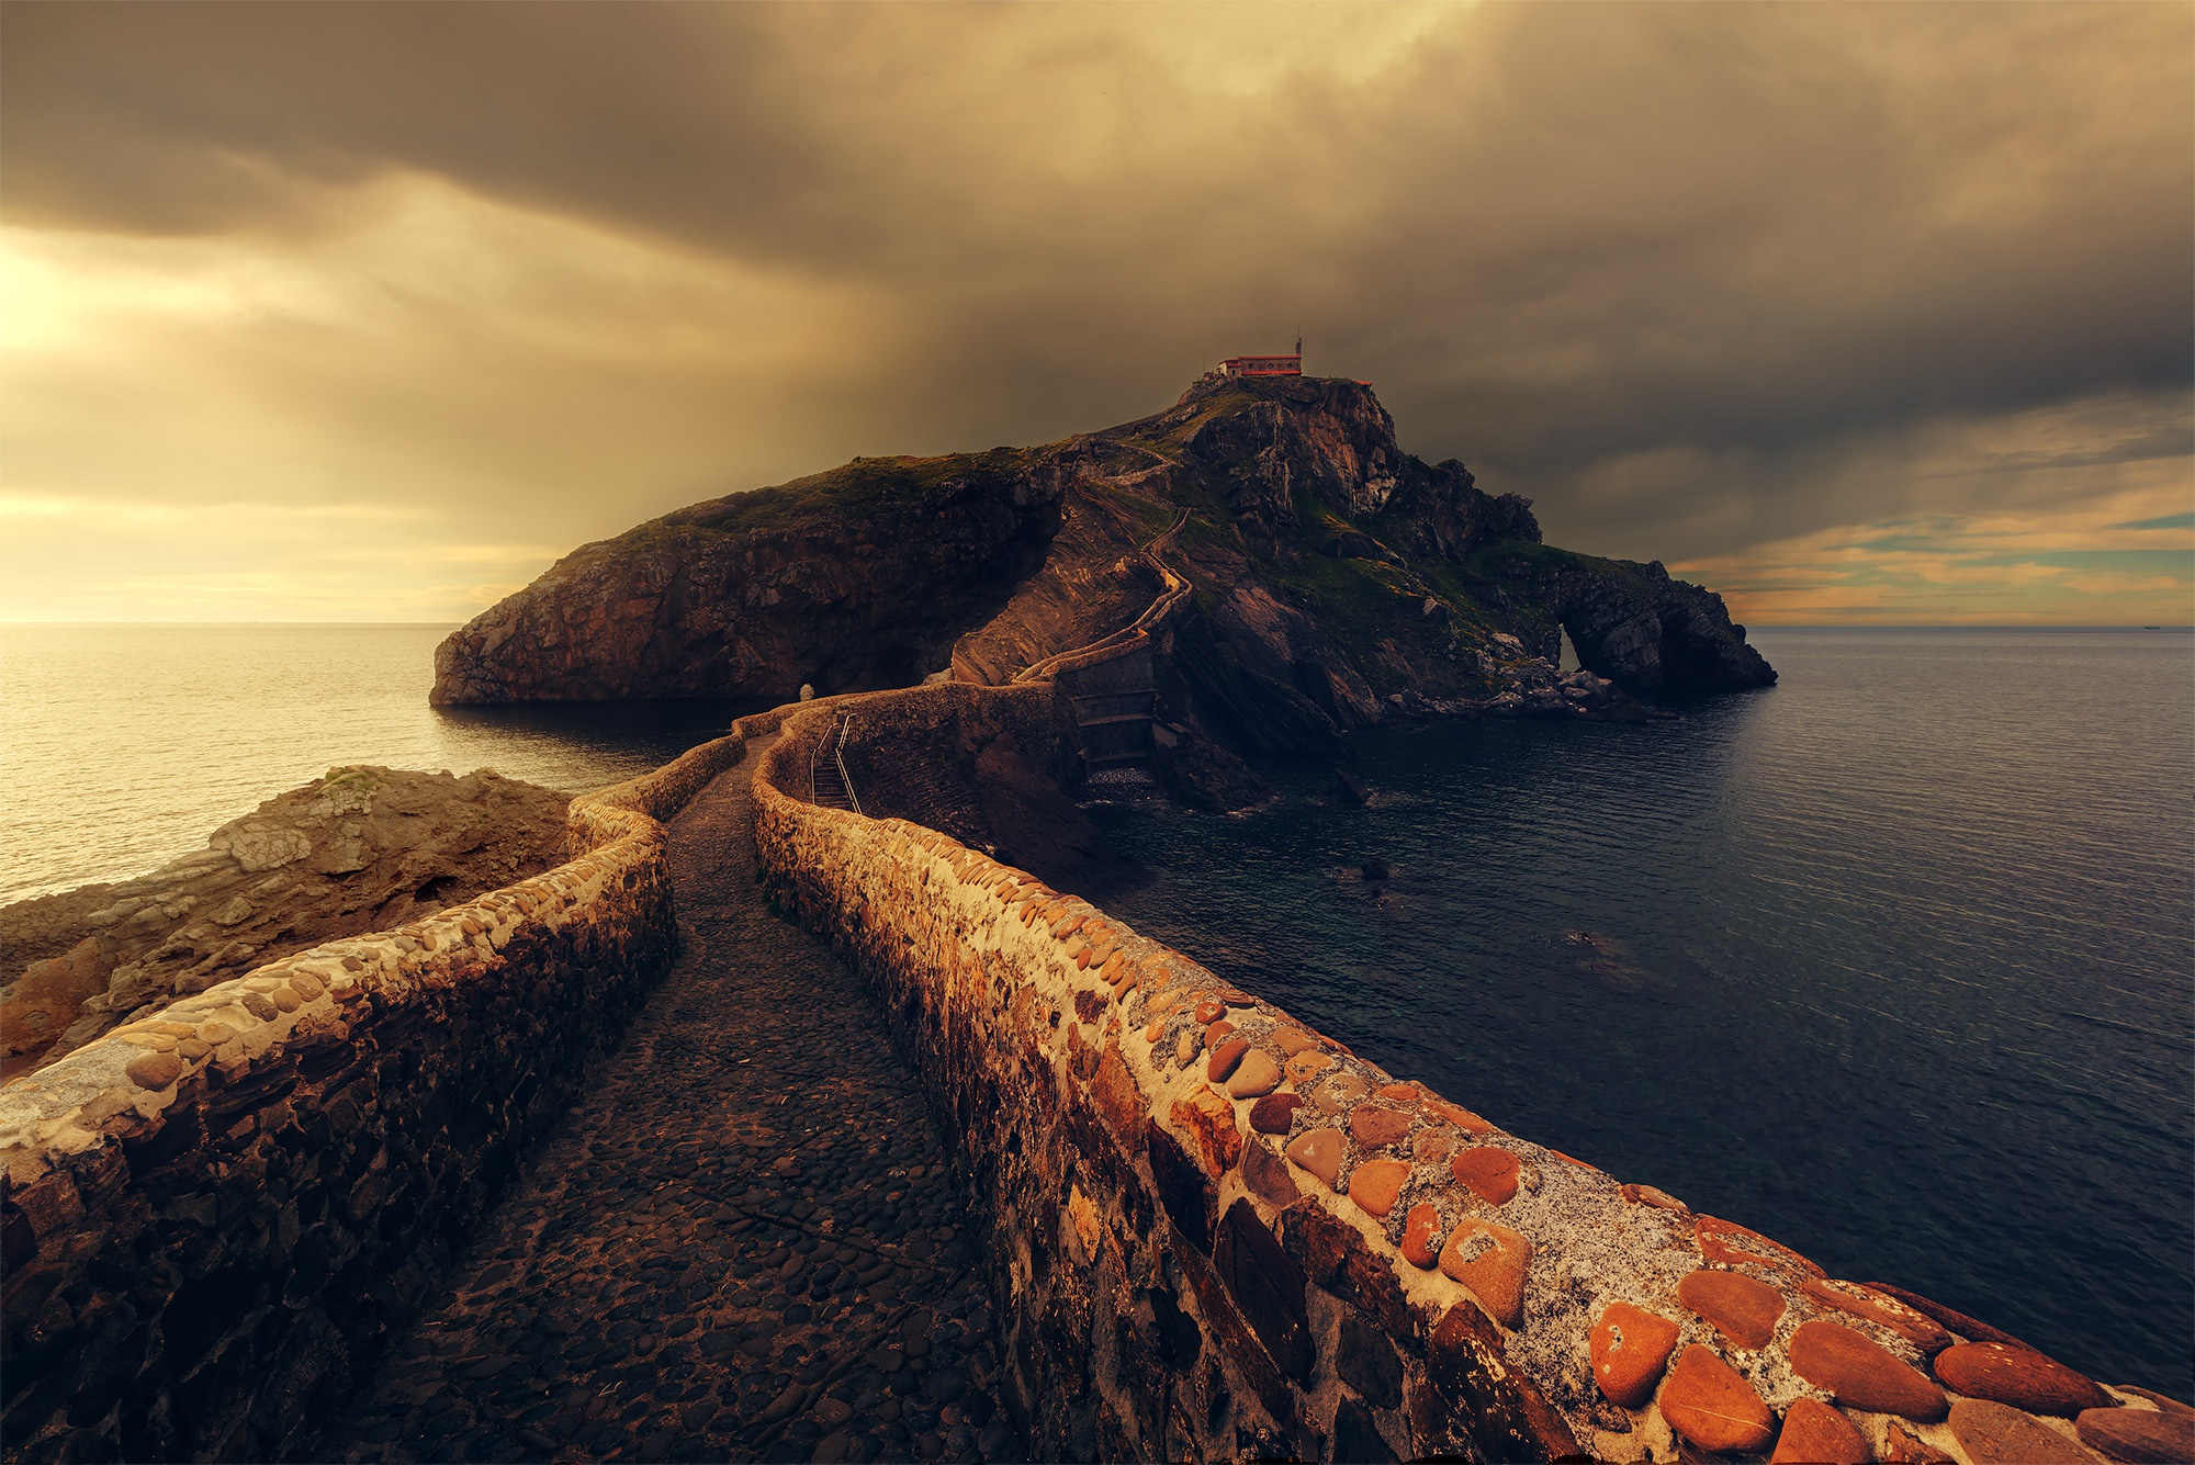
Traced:
POLYGON ((1054 697, 744 719, 575 800, 558 871, 0 1090, 7 1456, 2195 1456, 806 798, 843 711, 1060 768, 1054 697))

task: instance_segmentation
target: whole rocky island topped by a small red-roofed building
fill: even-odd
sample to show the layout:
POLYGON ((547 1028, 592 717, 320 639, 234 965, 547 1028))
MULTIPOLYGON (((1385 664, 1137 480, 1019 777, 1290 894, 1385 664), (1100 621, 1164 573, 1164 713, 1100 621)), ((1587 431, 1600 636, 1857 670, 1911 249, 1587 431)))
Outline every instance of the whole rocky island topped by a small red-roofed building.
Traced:
POLYGON ((1620 713, 1760 686, 1721 599, 1541 544, 1528 500, 1400 450, 1372 388, 1218 377, 1155 417, 1029 450, 856 461, 588 546, 452 636, 437 702, 1001 684, 1130 623, 1161 722, 1240 754, 1339 752, 1398 711, 1620 713), (1569 629, 1594 678, 1561 682, 1569 629))

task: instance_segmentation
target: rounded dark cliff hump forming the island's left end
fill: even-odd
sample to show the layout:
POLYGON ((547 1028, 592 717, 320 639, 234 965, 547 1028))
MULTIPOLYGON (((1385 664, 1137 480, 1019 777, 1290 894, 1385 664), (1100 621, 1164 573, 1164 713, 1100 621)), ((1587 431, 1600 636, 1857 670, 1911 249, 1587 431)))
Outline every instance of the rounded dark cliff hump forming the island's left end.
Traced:
POLYGON ((663 515, 452 634, 432 702, 904 686, 1045 564, 1073 458, 858 458, 663 515))

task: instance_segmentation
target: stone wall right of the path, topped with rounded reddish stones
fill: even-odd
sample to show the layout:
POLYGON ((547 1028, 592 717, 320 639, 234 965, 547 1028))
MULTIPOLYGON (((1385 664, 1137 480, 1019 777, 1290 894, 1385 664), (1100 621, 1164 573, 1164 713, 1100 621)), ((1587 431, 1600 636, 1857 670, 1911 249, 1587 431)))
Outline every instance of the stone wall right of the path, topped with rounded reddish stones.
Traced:
POLYGON ((757 772, 766 877, 874 983, 994 1213, 1038 1458, 2195 1458, 2182 1404, 1506 1134, 944 833, 788 796, 825 722, 757 772))

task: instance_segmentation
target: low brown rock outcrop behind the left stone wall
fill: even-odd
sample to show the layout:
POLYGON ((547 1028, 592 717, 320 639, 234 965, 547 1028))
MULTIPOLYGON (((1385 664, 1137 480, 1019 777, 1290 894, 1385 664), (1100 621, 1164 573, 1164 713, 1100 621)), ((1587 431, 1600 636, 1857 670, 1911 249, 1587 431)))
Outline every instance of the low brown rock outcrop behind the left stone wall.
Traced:
POLYGON ((331 768, 123 884, 0 908, 0 1072, 336 936, 402 925, 564 860, 553 790, 479 770, 331 768))

